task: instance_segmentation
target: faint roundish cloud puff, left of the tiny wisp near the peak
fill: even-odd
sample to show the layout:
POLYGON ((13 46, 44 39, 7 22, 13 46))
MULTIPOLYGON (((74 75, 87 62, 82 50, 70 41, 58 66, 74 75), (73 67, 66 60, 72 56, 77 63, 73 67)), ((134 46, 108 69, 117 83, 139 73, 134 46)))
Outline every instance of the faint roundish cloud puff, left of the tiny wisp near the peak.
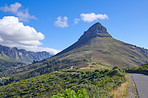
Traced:
POLYGON ((55 21, 54 24, 57 27, 64 28, 64 27, 68 27, 67 21, 68 21, 68 17, 63 17, 62 18, 61 16, 59 16, 59 17, 57 17, 57 21, 55 21))

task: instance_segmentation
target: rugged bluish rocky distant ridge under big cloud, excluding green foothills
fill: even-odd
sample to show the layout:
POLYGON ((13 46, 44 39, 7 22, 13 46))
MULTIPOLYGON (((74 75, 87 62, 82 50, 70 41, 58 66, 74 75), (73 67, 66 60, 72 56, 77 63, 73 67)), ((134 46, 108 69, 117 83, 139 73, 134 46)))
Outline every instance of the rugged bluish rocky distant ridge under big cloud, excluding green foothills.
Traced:
POLYGON ((5 60, 31 64, 33 61, 41 61, 51 56, 52 55, 46 51, 32 52, 26 51, 25 49, 18 49, 16 47, 11 48, 0 45, 0 57, 5 60))

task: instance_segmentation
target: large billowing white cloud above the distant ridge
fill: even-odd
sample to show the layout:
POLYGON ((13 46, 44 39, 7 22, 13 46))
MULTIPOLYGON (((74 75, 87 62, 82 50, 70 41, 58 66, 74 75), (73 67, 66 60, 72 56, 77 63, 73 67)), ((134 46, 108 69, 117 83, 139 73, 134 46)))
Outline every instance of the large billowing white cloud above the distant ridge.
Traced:
POLYGON ((9 47, 18 47, 29 51, 48 51, 56 54, 59 50, 39 47, 40 40, 45 36, 37 32, 33 27, 24 26, 22 22, 14 16, 5 16, 0 19, 0 44, 9 47))

